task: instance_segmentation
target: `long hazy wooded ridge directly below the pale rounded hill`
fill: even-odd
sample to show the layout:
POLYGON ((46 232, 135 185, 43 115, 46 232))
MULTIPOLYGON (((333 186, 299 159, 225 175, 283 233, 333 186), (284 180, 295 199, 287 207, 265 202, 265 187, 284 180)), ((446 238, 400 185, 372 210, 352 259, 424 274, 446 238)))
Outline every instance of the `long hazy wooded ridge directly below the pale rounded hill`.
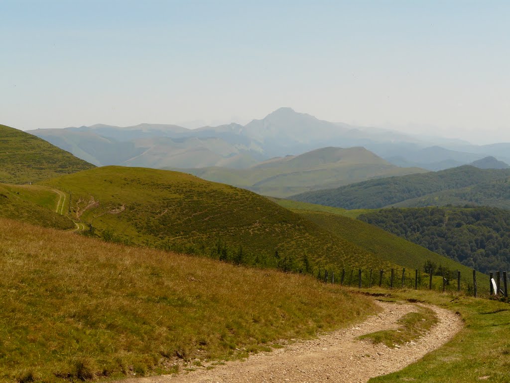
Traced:
POLYGON ((346 209, 380 208, 442 190, 506 180, 510 170, 459 166, 441 172, 369 180, 336 189, 318 190, 290 197, 296 201, 346 209))

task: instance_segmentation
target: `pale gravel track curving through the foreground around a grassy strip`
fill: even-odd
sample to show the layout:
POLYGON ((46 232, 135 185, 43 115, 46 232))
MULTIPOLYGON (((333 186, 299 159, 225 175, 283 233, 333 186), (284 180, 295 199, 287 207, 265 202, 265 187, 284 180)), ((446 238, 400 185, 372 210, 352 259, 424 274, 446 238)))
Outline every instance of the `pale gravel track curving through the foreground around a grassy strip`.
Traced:
POLYGON ((416 311, 414 304, 378 302, 384 312, 347 329, 298 341, 272 352, 252 355, 245 361, 227 362, 212 370, 198 369, 180 375, 130 378, 124 383, 230 383, 230 382, 366 382, 371 377, 398 371, 449 341, 463 326, 461 318, 436 306, 439 323, 425 336, 400 348, 357 341, 356 337, 382 329, 398 328, 403 315, 416 311))

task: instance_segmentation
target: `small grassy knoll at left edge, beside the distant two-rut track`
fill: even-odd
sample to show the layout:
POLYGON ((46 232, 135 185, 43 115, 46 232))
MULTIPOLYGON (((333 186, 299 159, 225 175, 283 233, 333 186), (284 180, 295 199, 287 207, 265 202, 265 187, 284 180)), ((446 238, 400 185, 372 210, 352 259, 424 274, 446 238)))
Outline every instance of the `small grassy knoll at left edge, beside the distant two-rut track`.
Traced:
POLYGON ((43 227, 72 229, 74 223, 56 212, 59 195, 41 186, 0 184, 0 217, 43 227))

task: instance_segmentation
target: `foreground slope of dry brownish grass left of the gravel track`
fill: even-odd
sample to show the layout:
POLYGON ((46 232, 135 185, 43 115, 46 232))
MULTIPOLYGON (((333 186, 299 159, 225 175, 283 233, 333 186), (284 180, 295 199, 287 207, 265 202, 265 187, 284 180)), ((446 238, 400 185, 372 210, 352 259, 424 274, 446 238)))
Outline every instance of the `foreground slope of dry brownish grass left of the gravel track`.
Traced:
POLYGON ((0 219, 0 380, 170 373, 345 326, 375 307, 314 278, 0 219))

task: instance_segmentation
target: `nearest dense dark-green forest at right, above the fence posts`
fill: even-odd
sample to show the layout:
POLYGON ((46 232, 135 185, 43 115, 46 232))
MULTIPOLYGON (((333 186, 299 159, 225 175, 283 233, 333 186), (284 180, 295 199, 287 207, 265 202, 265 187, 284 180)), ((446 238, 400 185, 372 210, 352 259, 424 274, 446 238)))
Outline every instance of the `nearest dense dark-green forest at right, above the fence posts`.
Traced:
POLYGON ((510 211, 391 208, 362 214, 359 219, 483 273, 510 270, 510 211))

